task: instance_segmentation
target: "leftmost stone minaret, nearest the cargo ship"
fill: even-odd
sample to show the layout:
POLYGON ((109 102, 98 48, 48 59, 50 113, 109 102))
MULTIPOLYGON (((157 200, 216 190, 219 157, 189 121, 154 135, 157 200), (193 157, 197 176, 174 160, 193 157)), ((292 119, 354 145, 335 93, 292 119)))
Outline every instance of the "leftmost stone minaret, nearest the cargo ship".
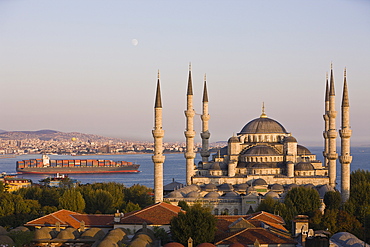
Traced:
POLYGON ((157 93, 155 96, 154 105, 154 155, 152 160, 154 163, 154 203, 163 201, 163 137, 164 130, 162 129, 162 99, 161 87, 159 83, 159 71, 157 81, 157 93))

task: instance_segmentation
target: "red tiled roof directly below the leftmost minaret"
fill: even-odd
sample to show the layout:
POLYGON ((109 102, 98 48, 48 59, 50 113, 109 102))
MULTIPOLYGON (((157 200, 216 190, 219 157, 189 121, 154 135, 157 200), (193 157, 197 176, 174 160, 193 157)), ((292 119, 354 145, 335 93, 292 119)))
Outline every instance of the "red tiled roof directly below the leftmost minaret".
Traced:
POLYGON ((180 207, 165 202, 156 203, 142 210, 127 213, 121 224, 169 225, 172 218, 182 211, 180 207))

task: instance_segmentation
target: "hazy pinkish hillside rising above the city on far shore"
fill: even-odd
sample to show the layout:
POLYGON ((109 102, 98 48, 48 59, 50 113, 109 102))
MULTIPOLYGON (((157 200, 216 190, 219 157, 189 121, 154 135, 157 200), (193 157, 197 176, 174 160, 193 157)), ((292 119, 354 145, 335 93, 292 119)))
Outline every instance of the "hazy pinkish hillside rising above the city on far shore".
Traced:
POLYGON ((37 131, 0 131, 0 139, 5 140, 24 140, 40 139, 44 141, 67 141, 76 138, 77 141, 123 141, 118 138, 108 138, 99 135, 83 134, 79 132, 60 132, 56 130, 37 130, 37 131))

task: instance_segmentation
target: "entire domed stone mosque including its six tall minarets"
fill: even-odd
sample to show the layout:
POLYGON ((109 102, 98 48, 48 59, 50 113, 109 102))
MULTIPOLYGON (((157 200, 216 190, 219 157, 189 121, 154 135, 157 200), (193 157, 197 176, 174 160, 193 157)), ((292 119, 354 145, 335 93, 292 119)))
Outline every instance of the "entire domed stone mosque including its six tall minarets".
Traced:
MULTIPOLYGON (((204 78, 202 119, 202 160, 195 164, 193 119, 192 74, 189 68, 186 116, 186 187, 177 189, 163 198, 163 137, 162 102, 158 74, 155 99, 154 137, 154 197, 155 202, 168 201, 177 205, 179 201, 190 204, 200 202, 213 208, 214 214, 246 214, 255 210, 266 196, 283 200, 286 192, 297 186, 318 190, 323 198, 327 191, 336 186, 336 111, 333 69, 330 82, 327 76, 325 93, 324 161, 316 159, 306 147, 278 121, 269 118, 264 107, 256 119, 248 122, 237 135, 229 138, 227 146, 210 155, 208 121, 208 92, 204 78), (210 158, 211 156, 211 158, 210 158)), ((341 105, 341 194, 342 200, 349 198, 350 186, 350 137, 349 97, 344 71, 341 105)))

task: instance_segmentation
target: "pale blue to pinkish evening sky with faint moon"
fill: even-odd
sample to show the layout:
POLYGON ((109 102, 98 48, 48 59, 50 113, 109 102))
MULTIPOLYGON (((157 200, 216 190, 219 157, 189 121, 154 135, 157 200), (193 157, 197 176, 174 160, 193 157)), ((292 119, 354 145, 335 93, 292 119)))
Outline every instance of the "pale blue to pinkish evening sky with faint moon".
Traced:
POLYGON ((322 145, 333 64, 352 143, 370 145, 370 1, 0 0, 0 129, 152 141, 157 71, 165 142, 185 141, 192 64, 200 142, 207 74, 210 142, 261 114, 322 145))

